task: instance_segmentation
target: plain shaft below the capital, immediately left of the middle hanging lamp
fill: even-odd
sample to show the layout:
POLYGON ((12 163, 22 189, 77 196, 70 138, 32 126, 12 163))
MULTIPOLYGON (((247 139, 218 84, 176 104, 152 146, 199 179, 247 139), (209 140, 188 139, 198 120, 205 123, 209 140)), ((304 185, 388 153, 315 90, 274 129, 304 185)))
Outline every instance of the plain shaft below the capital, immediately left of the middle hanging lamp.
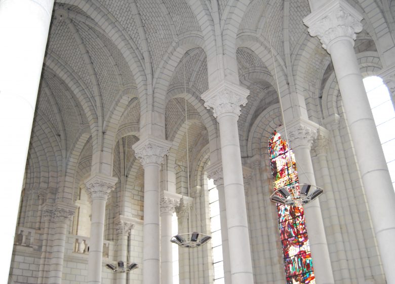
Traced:
POLYGON ((172 214, 161 214, 161 283, 173 283, 172 214))

